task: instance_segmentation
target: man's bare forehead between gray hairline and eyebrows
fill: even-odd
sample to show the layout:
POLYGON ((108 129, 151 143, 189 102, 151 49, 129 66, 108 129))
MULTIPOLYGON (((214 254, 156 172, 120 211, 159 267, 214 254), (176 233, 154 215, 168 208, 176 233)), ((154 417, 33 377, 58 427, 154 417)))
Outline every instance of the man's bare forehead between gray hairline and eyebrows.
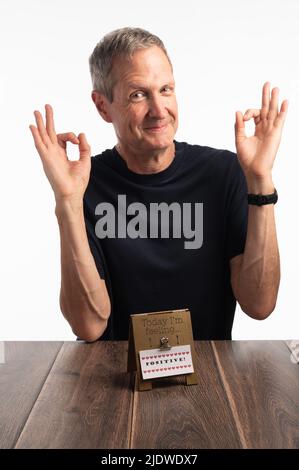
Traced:
POLYGON ((118 57, 113 63, 113 75, 116 84, 122 88, 173 81, 171 65, 157 46, 139 49, 132 58, 118 57))

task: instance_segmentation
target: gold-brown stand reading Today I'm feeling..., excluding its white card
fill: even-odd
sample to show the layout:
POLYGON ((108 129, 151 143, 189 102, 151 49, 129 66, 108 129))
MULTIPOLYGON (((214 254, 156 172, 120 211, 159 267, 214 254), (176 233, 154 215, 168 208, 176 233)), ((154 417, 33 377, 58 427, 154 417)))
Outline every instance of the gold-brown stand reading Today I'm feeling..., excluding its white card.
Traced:
MULTIPOLYGON (((161 378, 143 379, 140 366, 139 351, 148 349, 166 348, 171 346, 190 345, 192 358, 195 349, 192 334, 191 315, 188 309, 165 310, 130 315, 128 372, 136 371, 136 386, 139 391, 151 390, 153 381, 161 378), (168 325, 167 329, 148 328, 147 325, 168 325), (163 344, 167 340, 167 344, 163 344)), ((193 362, 194 367, 194 362, 193 362)), ((196 385, 196 373, 172 375, 171 377, 184 377, 186 385, 196 385)), ((166 376, 165 376, 166 378, 166 376)))

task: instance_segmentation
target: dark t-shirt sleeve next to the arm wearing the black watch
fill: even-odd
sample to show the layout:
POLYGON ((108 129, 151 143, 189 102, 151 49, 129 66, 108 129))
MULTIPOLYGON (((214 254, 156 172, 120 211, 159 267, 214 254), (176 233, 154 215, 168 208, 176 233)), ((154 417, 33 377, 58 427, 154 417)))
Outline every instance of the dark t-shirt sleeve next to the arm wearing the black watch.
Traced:
POLYGON ((232 154, 230 176, 226 245, 228 259, 244 252, 247 236, 247 183, 236 154, 232 154))

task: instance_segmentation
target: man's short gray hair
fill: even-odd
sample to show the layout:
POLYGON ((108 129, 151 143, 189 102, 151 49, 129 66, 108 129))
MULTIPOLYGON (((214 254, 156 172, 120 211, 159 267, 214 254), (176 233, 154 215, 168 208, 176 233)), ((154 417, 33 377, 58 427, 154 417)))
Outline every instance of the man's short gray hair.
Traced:
POLYGON ((115 57, 132 58, 138 49, 147 49, 158 46, 165 53, 172 68, 166 48, 158 36, 141 28, 121 28, 106 34, 96 45, 89 57, 89 69, 93 89, 102 93, 112 103, 113 86, 112 77, 113 59, 115 57))

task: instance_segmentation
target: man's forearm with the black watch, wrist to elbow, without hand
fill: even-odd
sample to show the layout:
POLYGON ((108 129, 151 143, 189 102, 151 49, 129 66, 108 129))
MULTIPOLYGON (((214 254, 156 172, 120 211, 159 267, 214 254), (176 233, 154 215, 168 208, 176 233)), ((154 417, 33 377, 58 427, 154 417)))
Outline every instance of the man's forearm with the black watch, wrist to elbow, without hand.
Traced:
MULTIPOLYGON (((253 194, 270 194, 273 189, 271 181, 248 184, 248 191, 253 194)), ((275 307, 279 282, 274 204, 249 205, 247 238, 237 281, 242 309, 254 318, 266 318, 275 307)))

